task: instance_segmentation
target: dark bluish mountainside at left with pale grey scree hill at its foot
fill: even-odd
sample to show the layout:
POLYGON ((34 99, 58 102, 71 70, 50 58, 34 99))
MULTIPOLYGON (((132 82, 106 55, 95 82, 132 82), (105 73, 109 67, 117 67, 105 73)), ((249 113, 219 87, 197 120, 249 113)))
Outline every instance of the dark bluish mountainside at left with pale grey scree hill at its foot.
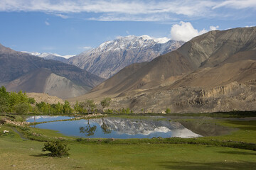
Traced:
POLYGON ((103 80, 71 64, 44 60, 0 45, 0 85, 9 91, 70 98, 85 94, 103 80))

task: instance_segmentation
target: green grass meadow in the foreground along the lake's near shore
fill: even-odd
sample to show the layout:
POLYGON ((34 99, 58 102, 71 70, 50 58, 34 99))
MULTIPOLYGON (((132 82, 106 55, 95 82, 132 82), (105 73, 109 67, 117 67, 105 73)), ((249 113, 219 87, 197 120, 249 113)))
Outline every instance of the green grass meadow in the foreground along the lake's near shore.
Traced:
MULTIPOLYGON (((228 135, 198 140, 234 140, 256 143, 256 121, 218 120, 237 128, 228 135)), ((213 145, 152 144, 134 140, 75 142, 69 139, 70 156, 47 157, 44 142, 22 140, 13 128, 1 125, 0 169, 255 169, 256 151, 213 145), (132 142, 133 141, 133 142, 132 142)), ((63 137, 51 130, 36 130, 44 136, 63 137)), ((150 141, 150 140, 149 140, 150 141)))

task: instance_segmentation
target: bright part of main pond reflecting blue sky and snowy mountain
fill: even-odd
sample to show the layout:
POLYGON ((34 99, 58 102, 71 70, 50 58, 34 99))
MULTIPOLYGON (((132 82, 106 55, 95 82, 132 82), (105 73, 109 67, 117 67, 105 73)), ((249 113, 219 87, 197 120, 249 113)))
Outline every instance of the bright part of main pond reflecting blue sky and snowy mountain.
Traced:
MULTIPOLYGON (((46 121, 46 120, 44 120, 46 121)), ((180 123, 158 120, 130 120, 124 118, 98 118, 42 123, 36 128, 58 130, 60 133, 88 138, 152 138, 152 137, 199 137, 180 123), (88 134, 90 134, 88 136, 88 134)))

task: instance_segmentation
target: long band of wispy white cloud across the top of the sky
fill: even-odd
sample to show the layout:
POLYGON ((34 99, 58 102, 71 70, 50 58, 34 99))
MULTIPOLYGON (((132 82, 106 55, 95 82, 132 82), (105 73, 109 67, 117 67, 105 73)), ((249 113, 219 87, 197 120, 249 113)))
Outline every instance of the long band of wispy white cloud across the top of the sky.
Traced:
POLYGON ((0 11, 41 11, 68 18, 67 13, 94 13, 97 21, 171 21, 185 17, 221 16, 217 8, 256 9, 255 0, 1 0, 0 11), (178 17, 178 18, 177 18, 178 17))

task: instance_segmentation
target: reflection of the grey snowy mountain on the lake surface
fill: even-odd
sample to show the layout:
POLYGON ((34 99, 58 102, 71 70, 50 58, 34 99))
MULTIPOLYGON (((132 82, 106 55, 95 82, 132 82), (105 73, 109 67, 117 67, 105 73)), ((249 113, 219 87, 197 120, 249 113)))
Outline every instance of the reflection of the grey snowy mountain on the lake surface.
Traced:
POLYGON ((191 130, 183 127, 181 123, 164 120, 136 120, 127 118, 102 118, 94 119, 92 122, 104 125, 119 134, 127 135, 150 135, 157 132, 170 132, 170 137, 199 137, 191 130))

